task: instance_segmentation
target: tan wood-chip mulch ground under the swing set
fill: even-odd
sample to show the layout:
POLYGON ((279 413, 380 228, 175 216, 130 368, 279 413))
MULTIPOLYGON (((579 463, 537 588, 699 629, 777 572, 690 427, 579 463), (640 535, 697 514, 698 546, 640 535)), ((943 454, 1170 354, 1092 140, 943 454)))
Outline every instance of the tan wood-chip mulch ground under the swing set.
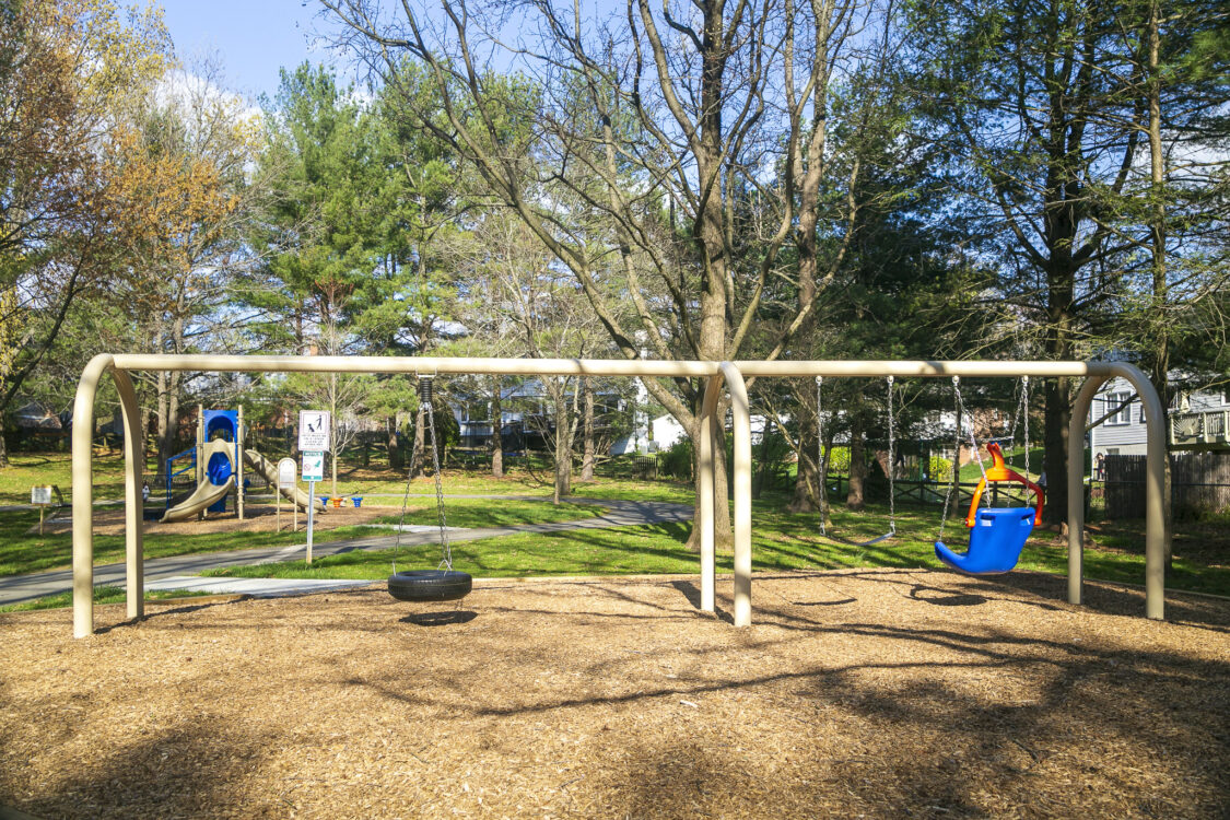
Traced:
POLYGON ((41 818, 1225 816, 1230 604, 927 570, 0 615, 41 818))

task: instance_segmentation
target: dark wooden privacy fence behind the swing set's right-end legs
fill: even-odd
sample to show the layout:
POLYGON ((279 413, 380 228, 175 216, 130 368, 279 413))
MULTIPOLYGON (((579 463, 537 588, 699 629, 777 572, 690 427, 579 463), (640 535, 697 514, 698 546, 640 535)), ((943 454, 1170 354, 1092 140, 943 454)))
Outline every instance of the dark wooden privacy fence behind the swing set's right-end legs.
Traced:
MULTIPOLYGON (((1230 509, 1230 452, 1170 456, 1175 515, 1202 516, 1230 509)), ((1145 509, 1145 456, 1106 456, 1106 518, 1141 518, 1145 509)))

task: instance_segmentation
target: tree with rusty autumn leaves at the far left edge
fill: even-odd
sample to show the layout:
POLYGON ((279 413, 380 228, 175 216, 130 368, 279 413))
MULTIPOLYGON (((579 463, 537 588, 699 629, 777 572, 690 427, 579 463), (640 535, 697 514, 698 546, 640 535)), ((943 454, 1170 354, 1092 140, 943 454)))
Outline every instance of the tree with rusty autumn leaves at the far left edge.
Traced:
POLYGON ((106 149, 169 54, 157 10, 125 14, 109 0, 0 9, 0 294, 17 347, 0 380, 0 416, 59 342, 75 302, 113 282, 119 170, 106 149))

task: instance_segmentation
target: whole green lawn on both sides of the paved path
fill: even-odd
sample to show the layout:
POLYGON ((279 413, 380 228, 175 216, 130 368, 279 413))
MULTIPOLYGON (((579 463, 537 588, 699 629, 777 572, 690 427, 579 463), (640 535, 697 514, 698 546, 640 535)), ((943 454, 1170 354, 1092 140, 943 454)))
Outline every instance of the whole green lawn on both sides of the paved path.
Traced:
MULTIPOLYGON (((68 489, 69 455, 14 454, 15 467, 0 471, 0 499, 14 503, 28 502, 30 484, 59 483, 68 489)), ((113 483, 100 483, 97 495, 121 494, 119 477, 122 459, 118 454, 97 455, 96 477, 100 481, 114 476, 113 483)), ((1032 459, 1031 459, 1032 461, 1032 459)), ((977 472, 977 465, 966 470, 977 472)), ((964 471, 963 471, 964 472, 964 471)), ((339 476, 338 489, 346 494, 390 493, 400 495, 405 479, 390 471, 354 468, 339 476)), ((550 498, 551 487, 519 470, 504 478, 491 478, 477 472, 448 471, 444 476, 448 494, 499 494, 538 495, 550 498)), ((432 478, 418 478, 411 492, 429 495, 434 492, 432 478)), ((670 481, 636 481, 627 478, 599 478, 592 483, 577 484, 579 497, 629 500, 668 500, 691 504, 692 489, 689 484, 670 481)), ((421 509, 407 515, 410 524, 434 524, 435 513, 426 499, 415 499, 421 509)), ((397 522, 400 500, 394 498, 371 499, 387 504, 389 514, 381 522, 397 522)), ((815 531, 815 516, 791 515, 782 511, 786 495, 766 493, 755 503, 753 556, 756 569, 785 568, 834 568, 854 566, 883 567, 935 567, 938 562, 931 542, 938 527, 937 509, 907 507, 898 513, 899 537, 892 542, 867 548, 850 547, 820 538, 815 531)), ((888 526, 884 505, 871 505, 866 514, 847 513, 834 507, 833 531, 851 541, 867 540, 881 535, 888 526)), ((503 526, 530 522, 563 521, 600 514, 600 508, 583 504, 558 507, 517 499, 492 502, 487 499, 446 500, 449 524, 461 527, 503 526)), ((0 514, 0 575, 66 568, 71 562, 71 541, 68 535, 27 535, 37 522, 33 511, 0 514)), ((616 530, 590 530, 549 535, 524 535, 498 540, 462 542, 454 546, 456 564, 477 575, 554 575, 554 574, 617 574, 695 572, 696 556, 684 548, 690 525, 662 525, 622 527, 616 530)), ((1144 578, 1143 521, 1114 521, 1091 524, 1092 545, 1086 551, 1085 566, 1090 578, 1141 583, 1144 578)), ((1177 521, 1175 526, 1175 563, 1167 573, 1167 586, 1214 594, 1230 594, 1230 568, 1224 557, 1230 552, 1230 526, 1225 521, 1177 521)), ((321 532, 317 541, 335 541, 370 536, 364 527, 342 527, 321 532)), ((958 551, 966 543, 961 515, 950 519, 950 546, 958 551)), ((145 554, 159 558, 199 552, 220 552, 246 547, 288 546, 301 543, 303 534, 228 532, 202 535, 148 535, 145 554)), ((122 536, 97 536, 95 538, 96 563, 123 561, 122 536)), ((424 563, 429 557, 418 556, 424 563)), ((383 578, 389 566, 387 553, 348 553, 319 559, 309 569, 301 563, 267 564, 252 569, 232 569, 229 574, 279 574, 285 577, 332 578, 383 578)), ((729 556, 720 557, 720 564, 728 569, 729 556)), ((1063 573, 1066 569, 1066 546, 1049 534, 1041 532, 1031 538, 1020 564, 1025 569, 1063 573)))

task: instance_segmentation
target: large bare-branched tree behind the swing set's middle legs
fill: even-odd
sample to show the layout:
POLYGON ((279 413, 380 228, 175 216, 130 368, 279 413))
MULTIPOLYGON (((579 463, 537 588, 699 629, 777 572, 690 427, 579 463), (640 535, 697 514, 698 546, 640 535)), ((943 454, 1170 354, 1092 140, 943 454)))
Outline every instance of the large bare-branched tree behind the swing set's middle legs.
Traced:
MULTIPOLYGON (((483 33, 499 28, 497 4, 442 4, 433 18, 407 2, 400 20, 369 0, 323 5, 387 84, 410 60, 423 66, 440 106, 421 112, 424 124, 571 272, 621 355, 738 358, 800 224, 802 257, 788 277, 798 307, 769 357, 785 354, 807 327, 815 294, 841 262, 839 241, 812 264, 812 230, 849 225, 857 208, 819 193, 831 159, 825 93, 871 6, 717 0, 656 12, 630 0, 609 18, 583 20, 535 0, 518 10, 541 36, 509 53, 483 33), (477 57, 491 52, 529 76, 492 71, 477 57), (518 103, 512 113, 528 125, 510 129, 518 103), (779 168, 768 184, 765 168, 779 168), (739 221, 749 210, 759 221, 739 221), (624 301, 631 321, 616 315, 624 301)), ((857 165, 850 170, 857 178, 857 165)), ((646 387, 699 433, 699 384, 646 387)), ((724 470, 718 484, 724 492, 724 470)), ((724 505, 717 519, 726 540, 724 505)))

